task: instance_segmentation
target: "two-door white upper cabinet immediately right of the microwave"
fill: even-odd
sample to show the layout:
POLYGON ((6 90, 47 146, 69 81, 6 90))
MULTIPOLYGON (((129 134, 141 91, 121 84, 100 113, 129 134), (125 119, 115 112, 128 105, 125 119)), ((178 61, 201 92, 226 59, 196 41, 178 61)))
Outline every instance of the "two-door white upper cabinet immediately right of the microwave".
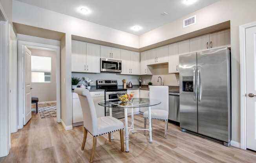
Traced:
POLYGON ((140 74, 141 66, 140 66, 139 53, 121 49, 121 60, 122 60, 121 74, 131 74, 131 75, 140 74))

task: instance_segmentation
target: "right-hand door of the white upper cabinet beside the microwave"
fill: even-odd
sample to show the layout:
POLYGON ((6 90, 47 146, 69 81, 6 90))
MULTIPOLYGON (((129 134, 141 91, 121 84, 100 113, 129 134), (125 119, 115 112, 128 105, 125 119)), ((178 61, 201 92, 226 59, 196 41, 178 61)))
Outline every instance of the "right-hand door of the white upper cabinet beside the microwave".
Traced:
POLYGON ((131 51, 130 69, 133 75, 139 75, 141 72, 140 55, 134 51, 131 51))

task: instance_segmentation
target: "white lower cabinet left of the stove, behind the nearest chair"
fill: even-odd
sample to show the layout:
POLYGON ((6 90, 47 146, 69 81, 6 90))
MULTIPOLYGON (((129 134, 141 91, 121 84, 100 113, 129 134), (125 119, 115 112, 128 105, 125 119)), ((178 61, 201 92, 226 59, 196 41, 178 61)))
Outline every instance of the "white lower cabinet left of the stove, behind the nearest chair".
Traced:
MULTIPOLYGON (((96 109, 97 117, 105 116, 105 108, 98 105, 99 101, 104 100, 104 92, 90 92, 91 98, 93 99, 94 106, 96 109)), ((73 123, 82 122, 83 114, 82 114, 82 107, 79 101, 79 97, 77 93, 72 93, 72 107, 73 107, 73 123)))

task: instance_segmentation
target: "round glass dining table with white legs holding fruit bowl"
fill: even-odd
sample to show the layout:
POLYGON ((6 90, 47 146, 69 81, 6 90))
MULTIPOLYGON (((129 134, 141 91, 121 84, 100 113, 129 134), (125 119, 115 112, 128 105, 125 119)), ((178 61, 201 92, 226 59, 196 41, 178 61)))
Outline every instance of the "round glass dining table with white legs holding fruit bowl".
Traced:
MULTIPOLYGON (((112 100, 105 100, 100 101, 98 104, 102 107, 109 107, 110 116, 112 116, 112 108, 123 108, 124 109, 124 125, 125 125, 125 145, 126 145, 126 152, 129 152, 129 134, 130 131, 134 133, 134 130, 147 130, 149 132, 149 142, 152 143, 152 124, 149 121, 148 129, 135 129, 134 128, 134 115, 133 109, 134 108, 141 108, 141 107, 148 107, 148 119, 151 120, 151 107, 155 105, 159 105, 161 103, 160 100, 150 99, 150 98, 133 98, 129 102, 122 102, 118 99, 112 100), (132 116, 132 125, 128 127, 128 109, 131 110, 132 116)), ((112 135, 113 137, 113 135, 112 135)))

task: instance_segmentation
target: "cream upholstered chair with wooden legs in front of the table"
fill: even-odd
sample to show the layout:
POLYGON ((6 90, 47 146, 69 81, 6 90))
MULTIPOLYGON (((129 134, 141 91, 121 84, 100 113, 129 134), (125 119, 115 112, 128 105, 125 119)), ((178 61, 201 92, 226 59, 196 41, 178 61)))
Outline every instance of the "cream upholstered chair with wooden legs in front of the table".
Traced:
POLYGON ((111 132, 120 131, 121 151, 124 151, 124 123, 116 118, 105 116, 97 118, 95 106, 88 89, 76 88, 75 92, 79 96, 84 118, 84 139, 81 150, 84 150, 87 133, 93 136, 93 147, 90 162, 93 161, 95 148, 97 145, 97 136, 108 134, 108 140, 111 141, 111 132))

